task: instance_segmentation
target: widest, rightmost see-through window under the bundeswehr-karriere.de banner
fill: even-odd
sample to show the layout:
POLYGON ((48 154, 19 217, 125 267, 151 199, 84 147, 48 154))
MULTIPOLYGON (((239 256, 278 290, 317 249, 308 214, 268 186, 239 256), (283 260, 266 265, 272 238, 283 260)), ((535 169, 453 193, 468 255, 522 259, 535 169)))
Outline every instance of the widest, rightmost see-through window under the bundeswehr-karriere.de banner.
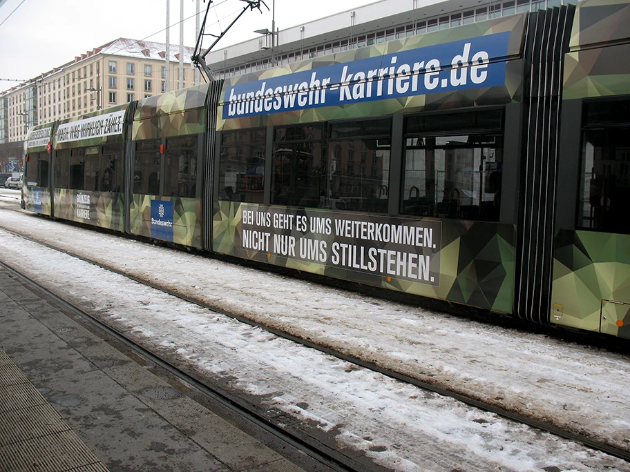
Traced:
POLYGON ((499 221, 501 126, 501 110, 406 119, 401 213, 499 221))

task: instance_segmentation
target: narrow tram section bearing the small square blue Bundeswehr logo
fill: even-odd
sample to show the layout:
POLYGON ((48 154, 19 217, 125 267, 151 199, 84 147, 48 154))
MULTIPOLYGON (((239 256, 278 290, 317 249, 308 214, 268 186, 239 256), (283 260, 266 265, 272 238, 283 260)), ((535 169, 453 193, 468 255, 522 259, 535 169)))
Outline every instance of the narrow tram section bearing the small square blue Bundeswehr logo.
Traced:
POLYGON ((208 85, 138 102, 133 119, 131 233, 201 249, 208 85))

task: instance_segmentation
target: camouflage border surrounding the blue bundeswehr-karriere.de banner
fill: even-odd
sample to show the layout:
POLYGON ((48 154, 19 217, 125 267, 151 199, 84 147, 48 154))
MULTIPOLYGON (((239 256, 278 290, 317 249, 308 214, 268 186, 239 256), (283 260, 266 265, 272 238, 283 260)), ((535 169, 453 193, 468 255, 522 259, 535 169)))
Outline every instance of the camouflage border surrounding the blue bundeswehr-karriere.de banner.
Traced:
POLYGON ((217 129, 235 130, 242 128, 256 128, 267 125, 284 125, 306 123, 312 121, 325 121, 334 119, 349 119, 356 117, 371 117, 392 115, 399 112, 420 112, 429 110, 446 110, 466 106, 499 105, 510 101, 522 100, 523 61, 522 57, 524 28, 526 26, 526 14, 515 14, 508 17, 481 21, 470 25, 459 26, 430 32, 426 35, 406 37, 377 44, 375 46, 338 52, 336 55, 318 57, 305 61, 288 63, 273 69, 250 74, 239 75, 226 79, 222 91, 222 99, 225 99, 226 90, 238 83, 258 81, 268 77, 278 77, 315 70, 332 64, 347 63, 368 57, 379 57, 394 52, 413 50, 426 46, 449 41, 471 39, 484 35, 493 35, 499 32, 510 32, 507 47, 507 57, 496 58, 499 61, 508 59, 506 64, 506 79, 502 86, 473 88, 454 92, 433 93, 430 95, 416 95, 401 99, 383 99, 379 101, 361 102, 345 106, 328 106, 307 110, 294 110, 284 113, 272 113, 270 115, 258 115, 252 117, 240 117, 222 119, 223 105, 218 110, 217 129))

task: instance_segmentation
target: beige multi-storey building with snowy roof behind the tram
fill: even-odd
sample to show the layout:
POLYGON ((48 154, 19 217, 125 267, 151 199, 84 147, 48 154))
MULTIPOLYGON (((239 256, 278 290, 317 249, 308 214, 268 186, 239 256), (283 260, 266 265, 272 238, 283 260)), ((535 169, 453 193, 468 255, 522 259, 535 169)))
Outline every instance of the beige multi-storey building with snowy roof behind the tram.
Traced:
MULTIPOLYGON (((171 44, 169 89, 180 88, 179 46, 171 44)), ((184 47, 184 83, 194 84, 193 48, 184 47)), ((33 126, 166 91, 166 45, 120 38, 0 93, 0 144, 33 126)))

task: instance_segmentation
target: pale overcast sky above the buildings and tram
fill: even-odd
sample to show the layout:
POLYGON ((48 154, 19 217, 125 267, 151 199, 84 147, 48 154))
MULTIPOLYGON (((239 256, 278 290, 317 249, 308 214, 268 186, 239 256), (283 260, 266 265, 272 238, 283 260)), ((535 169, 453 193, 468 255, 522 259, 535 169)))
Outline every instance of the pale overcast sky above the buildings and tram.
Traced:
MULTIPOLYGON (((376 0, 265 0, 269 11, 247 11, 216 46, 222 48, 271 29, 272 2, 276 27, 283 30, 374 3, 376 0)), ((408 0, 411 6, 411 0, 408 0)), ((184 0, 184 45, 195 46, 197 0, 184 0)), ((200 0, 201 18, 207 0, 200 0)), ((215 0, 207 31, 220 32, 244 6, 241 0, 215 0)), ((32 79, 42 72, 120 37, 166 41, 166 0, 0 0, 0 79, 32 79)), ((180 1, 171 0, 171 43, 180 41, 180 1)), ((204 46, 210 46, 210 39, 204 46)), ((19 82, 0 80, 0 91, 19 82)))

